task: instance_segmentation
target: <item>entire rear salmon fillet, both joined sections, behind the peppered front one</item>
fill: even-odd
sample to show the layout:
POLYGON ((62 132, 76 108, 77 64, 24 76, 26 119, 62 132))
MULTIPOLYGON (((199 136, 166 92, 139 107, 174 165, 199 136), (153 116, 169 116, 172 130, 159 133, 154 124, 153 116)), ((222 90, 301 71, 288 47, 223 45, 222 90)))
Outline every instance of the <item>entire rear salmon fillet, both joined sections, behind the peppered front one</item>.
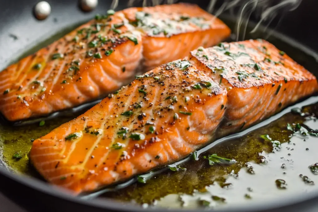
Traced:
POLYGON ((0 73, 0 111, 9 121, 40 117, 105 97, 138 69, 184 58, 230 34, 192 4, 129 8, 97 15, 0 73))

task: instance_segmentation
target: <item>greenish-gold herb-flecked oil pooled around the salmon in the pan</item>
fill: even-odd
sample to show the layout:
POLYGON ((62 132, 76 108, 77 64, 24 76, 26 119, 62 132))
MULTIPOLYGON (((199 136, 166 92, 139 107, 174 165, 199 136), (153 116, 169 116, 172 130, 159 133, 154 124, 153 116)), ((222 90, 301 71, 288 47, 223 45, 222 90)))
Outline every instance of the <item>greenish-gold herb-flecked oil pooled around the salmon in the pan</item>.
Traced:
MULTIPOLYGON (((233 29, 235 22, 224 21, 233 29)), ((49 40, 52 41, 61 36, 55 36, 49 40)), ((249 38, 262 37, 262 34, 254 33, 252 36, 254 37, 249 38)), ((45 43, 50 43, 50 41, 45 43)), ((306 54, 301 54, 299 49, 280 42, 277 38, 269 38, 268 41, 285 50, 287 54, 309 70, 315 70, 316 61, 306 54)), ((317 97, 316 100, 318 101, 317 97)), ((311 173, 308 166, 318 162, 318 158, 315 157, 318 137, 304 137, 299 133, 293 135, 293 132, 287 129, 287 123, 305 123, 313 129, 318 128, 317 107, 318 103, 304 108, 304 111, 309 114, 308 117, 312 118, 288 113, 241 138, 219 143, 200 155, 198 161, 183 163, 181 166, 186 168, 186 171, 168 170, 149 179, 145 184, 136 182, 127 188, 108 192, 100 198, 114 198, 118 201, 136 202, 143 206, 154 207, 218 208, 317 190, 318 175, 311 173), (282 143, 280 151, 272 152, 273 143, 260 137, 265 134, 282 143), (232 165, 210 166, 207 159, 203 158, 208 154, 218 154, 225 158, 235 159, 237 162, 232 165), (264 162, 264 157, 266 162, 264 162), (246 165, 246 163, 248 164, 246 165), (305 183, 299 174, 308 176, 314 184, 305 183), (278 179, 286 181, 286 189, 277 188, 275 181, 278 179)), ((38 123, 21 127, 1 124, 0 146, 3 161, 17 173, 42 179, 29 162, 28 153, 32 139, 47 134, 80 113, 70 117, 47 120, 42 127, 38 123), (17 153, 21 158, 13 158, 13 155, 17 153)))

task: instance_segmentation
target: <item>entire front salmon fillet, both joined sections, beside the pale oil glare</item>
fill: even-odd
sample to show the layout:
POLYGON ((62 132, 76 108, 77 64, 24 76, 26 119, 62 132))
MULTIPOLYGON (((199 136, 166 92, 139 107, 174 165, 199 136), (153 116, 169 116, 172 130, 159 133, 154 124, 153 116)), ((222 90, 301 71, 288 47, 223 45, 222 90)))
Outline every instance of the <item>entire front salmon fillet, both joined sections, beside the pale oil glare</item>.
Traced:
POLYGON ((263 40, 200 47, 136 78, 33 142, 31 162, 47 181, 79 194, 126 180, 318 90, 315 76, 263 40))

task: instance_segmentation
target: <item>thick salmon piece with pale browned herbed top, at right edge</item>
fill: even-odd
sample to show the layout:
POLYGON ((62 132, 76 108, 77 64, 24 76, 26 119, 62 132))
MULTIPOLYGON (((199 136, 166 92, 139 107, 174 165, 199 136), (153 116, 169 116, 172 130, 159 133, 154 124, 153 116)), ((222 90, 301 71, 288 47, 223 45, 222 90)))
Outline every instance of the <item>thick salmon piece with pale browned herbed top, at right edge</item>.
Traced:
POLYGON ((222 134, 249 127, 318 91, 312 73, 265 40, 198 48, 189 60, 228 91, 222 134))

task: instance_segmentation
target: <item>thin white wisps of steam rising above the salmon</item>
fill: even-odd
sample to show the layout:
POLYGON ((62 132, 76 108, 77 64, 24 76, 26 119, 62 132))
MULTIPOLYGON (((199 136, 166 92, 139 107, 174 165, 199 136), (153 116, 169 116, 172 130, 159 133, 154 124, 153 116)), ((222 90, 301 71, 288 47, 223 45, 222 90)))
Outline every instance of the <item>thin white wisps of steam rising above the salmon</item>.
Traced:
MULTIPOLYGON (((236 40, 244 40, 248 21, 251 15, 255 15, 259 20, 254 29, 248 33, 255 33, 259 27, 265 26, 263 29, 267 32, 267 36, 271 35, 272 31, 268 31, 268 26, 273 20, 278 20, 275 24, 278 26, 284 14, 295 10, 302 0, 210 0, 206 10, 216 17, 222 13, 230 13, 231 16, 236 17, 236 27, 234 34, 236 40), (216 8, 216 4, 222 3, 220 7, 216 8), (275 19, 277 18, 277 19, 275 19)), ((119 0, 113 0, 112 9, 118 6, 119 0)), ((128 7, 134 6, 136 3, 142 2, 142 6, 155 6, 158 4, 172 4, 178 0, 129 0, 128 7)))

